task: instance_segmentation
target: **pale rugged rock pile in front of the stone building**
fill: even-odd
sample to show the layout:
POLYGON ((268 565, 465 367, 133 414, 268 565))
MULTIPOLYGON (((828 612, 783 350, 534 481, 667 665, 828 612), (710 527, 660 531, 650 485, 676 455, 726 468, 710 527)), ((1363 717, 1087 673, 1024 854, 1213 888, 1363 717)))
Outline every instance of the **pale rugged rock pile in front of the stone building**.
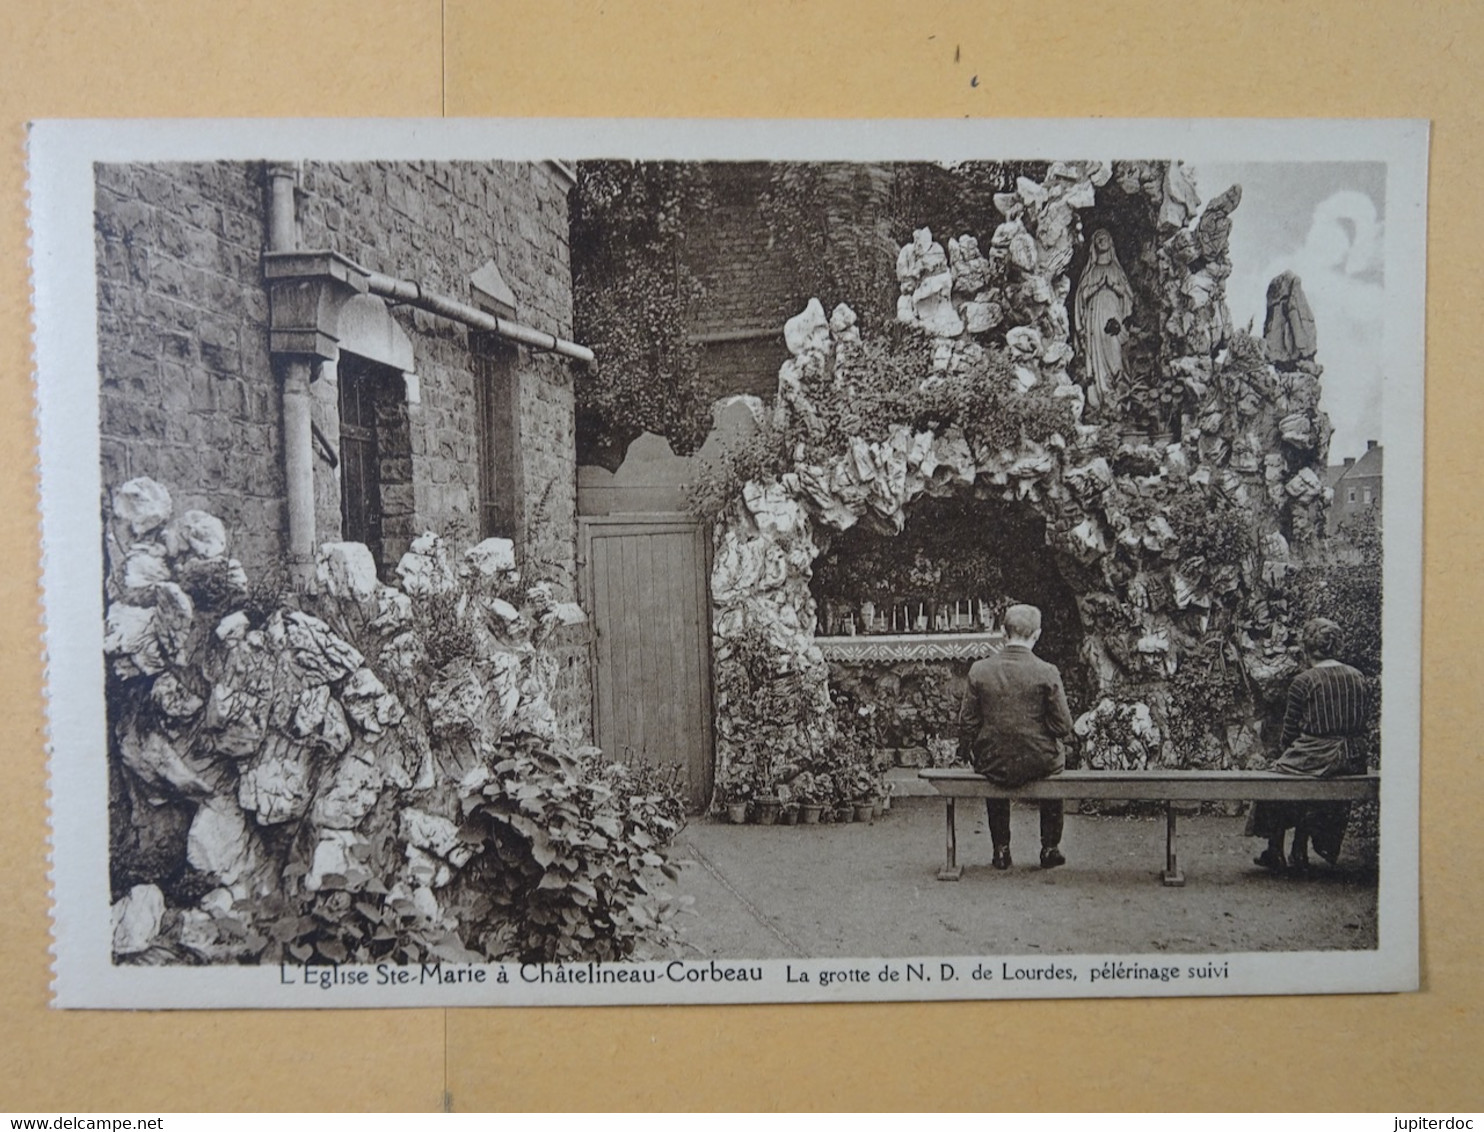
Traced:
POLYGON ((506 736, 556 737, 540 641, 582 611, 522 586, 506 540, 453 559, 424 534, 401 589, 326 543, 294 598, 249 588, 223 524, 172 519, 154 481, 113 513, 114 952, 234 961, 261 948, 242 923, 355 874, 426 932, 463 927, 462 783, 506 736))

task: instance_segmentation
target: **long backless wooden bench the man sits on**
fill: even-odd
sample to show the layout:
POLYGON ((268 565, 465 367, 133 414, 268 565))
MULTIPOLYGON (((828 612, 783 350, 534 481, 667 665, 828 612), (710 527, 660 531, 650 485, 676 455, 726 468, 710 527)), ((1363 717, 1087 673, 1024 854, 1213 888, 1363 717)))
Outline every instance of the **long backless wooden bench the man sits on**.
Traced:
POLYGON ((959 880, 959 838, 954 803, 959 798, 1020 798, 1022 801, 1097 800, 1165 803, 1165 871, 1169 886, 1186 883, 1175 858, 1177 801, 1365 801, 1380 797, 1380 774, 1310 779, 1272 770, 1066 770, 1024 786, 996 786, 982 774, 959 767, 920 770, 948 801, 948 859, 938 880, 959 880))

